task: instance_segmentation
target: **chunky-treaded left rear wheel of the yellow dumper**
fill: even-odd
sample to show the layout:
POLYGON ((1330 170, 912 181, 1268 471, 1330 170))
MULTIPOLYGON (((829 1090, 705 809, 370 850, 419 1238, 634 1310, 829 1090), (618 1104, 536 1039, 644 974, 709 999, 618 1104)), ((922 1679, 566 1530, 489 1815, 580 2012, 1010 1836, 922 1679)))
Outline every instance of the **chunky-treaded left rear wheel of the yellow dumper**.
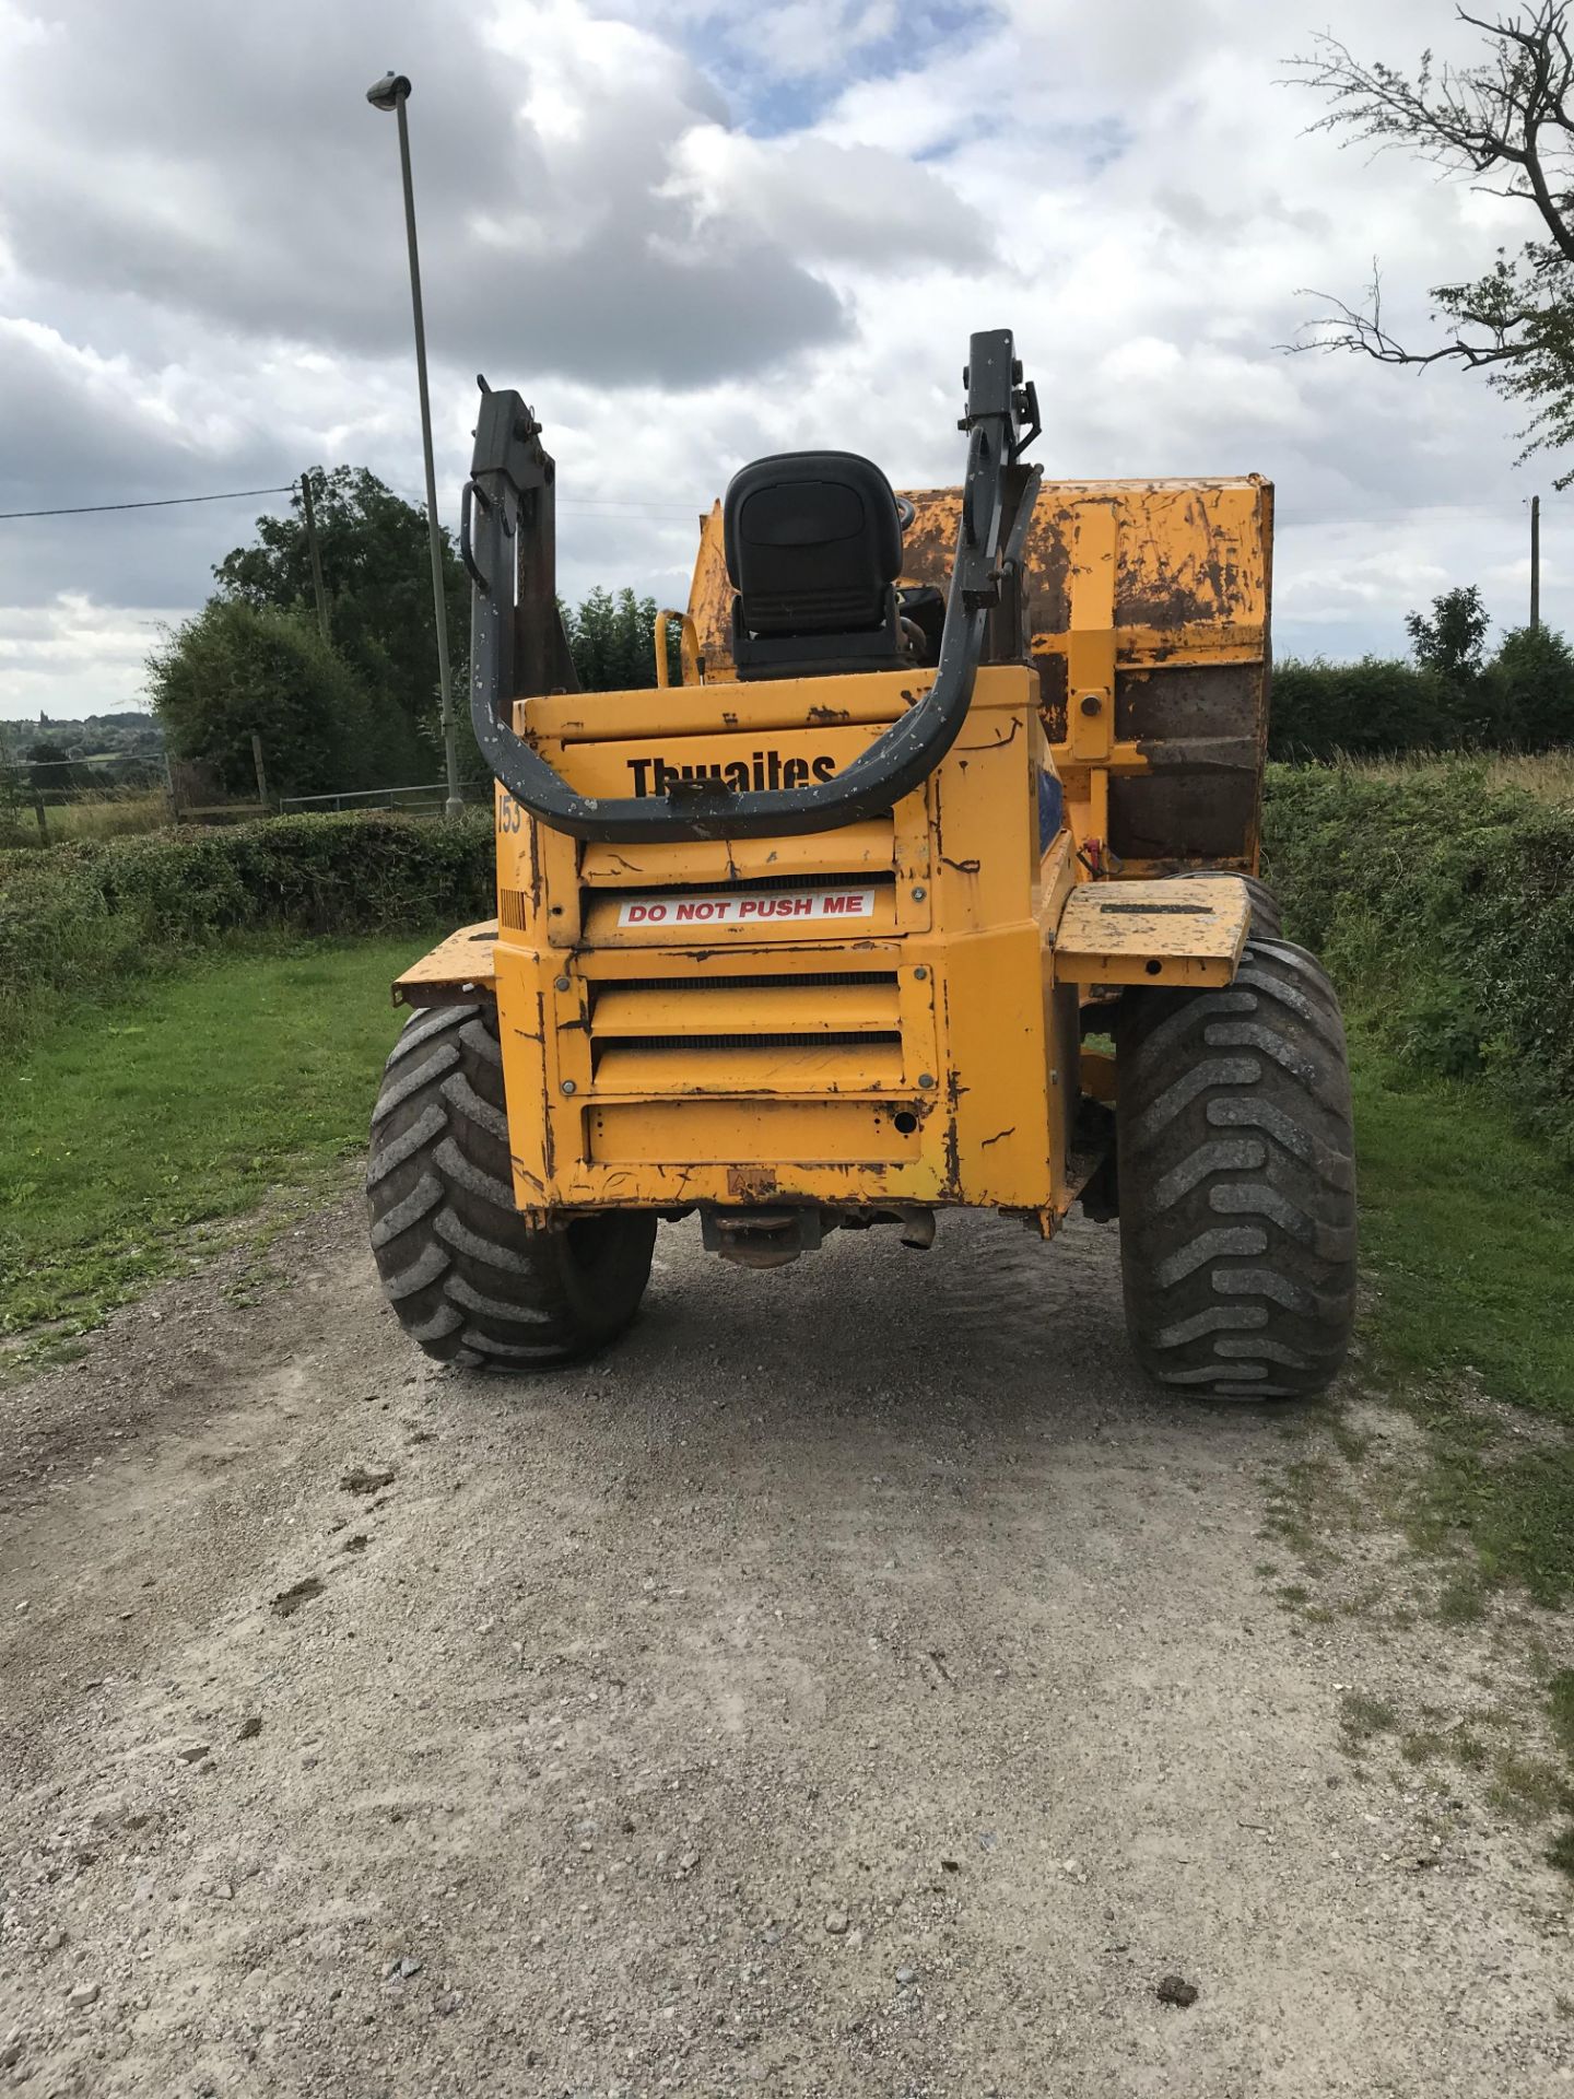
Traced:
POLYGON ((491 1005, 416 1012, 371 1115, 371 1251, 405 1333, 439 1362, 571 1362, 634 1318, 655 1217, 531 1228, 514 1209, 491 1005))

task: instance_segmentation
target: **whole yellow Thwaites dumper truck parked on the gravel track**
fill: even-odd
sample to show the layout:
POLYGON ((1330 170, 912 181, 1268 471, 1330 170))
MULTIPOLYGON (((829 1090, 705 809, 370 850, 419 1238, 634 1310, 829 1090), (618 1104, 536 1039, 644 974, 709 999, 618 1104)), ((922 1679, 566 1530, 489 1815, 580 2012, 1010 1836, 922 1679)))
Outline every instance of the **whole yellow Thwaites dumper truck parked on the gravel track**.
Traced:
POLYGON ((395 987, 367 1173, 430 1356, 611 1341, 690 1213, 760 1268, 833 1230, 930 1247, 955 1207, 1051 1238, 1081 1203, 1119 1217, 1161 1385, 1339 1369, 1343 1026, 1255 879, 1272 489, 1045 483, 1009 332, 963 384, 955 489, 844 451, 743 466, 632 693, 577 686, 554 462, 483 393, 462 546, 497 917, 395 987))

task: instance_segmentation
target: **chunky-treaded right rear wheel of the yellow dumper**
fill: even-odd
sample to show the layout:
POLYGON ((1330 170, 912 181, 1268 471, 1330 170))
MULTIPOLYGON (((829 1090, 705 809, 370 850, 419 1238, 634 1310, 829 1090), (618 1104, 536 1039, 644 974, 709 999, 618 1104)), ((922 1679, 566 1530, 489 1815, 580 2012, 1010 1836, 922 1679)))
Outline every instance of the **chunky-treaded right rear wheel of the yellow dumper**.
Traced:
POLYGON ((1349 1348, 1356 1163, 1333 984, 1253 938, 1219 991, 1144 991, 1116 1031, 1127 1331, 1177 1394, 1322 1392, 1349 1348))

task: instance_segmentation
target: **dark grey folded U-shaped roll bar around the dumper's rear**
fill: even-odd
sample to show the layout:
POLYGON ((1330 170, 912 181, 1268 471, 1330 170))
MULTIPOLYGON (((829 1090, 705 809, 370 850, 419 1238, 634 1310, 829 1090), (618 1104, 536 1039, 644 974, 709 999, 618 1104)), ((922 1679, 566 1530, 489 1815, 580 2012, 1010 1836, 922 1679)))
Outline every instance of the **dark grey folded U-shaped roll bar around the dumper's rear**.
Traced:
MULTIPOLYGON (((1039 434, 1039 405, 1033 384, 1022 384, 1007 327, 972 338, 963 384, 967 414, 957 428, 967 432, 967 470, 940 663, 930 688, 846 772, 829 781, 764 791, 735 789, 718 779, 678 781, 665 796, 636 798, 579 793, 512 728, 516 697, 571 682, 569 676, 554 678, 567 646, 552 577, 544 579, 539 560, 544 546, 550 567, 554 466, 525 401, 508 388, 493 393, 483 382, 476 449, 460 510, 460 550, 474 586, 470 720, 487 764, 514 800, 571 838, 648 846, 680 838, 833 831, 860 817, 884 814, 928 779, 967 718, 988 613, 1003 602, 1001 586, 1016 581, 1007 563, 1020 565, 1022 558, 1022 531, 1014 527, 1022 504, 1030 510, 1037 495, 1037 474, 1009 472, 1039 434), (518 600, 516 577, 525 586, 518 600), (514 678, 516 657, 520 678, 514 678)), ((1007 596, 1020 594, 1009 588, 1007 596)), ((1018 638, 1016 653, 1022 646, 1024 638, 1018 638)))

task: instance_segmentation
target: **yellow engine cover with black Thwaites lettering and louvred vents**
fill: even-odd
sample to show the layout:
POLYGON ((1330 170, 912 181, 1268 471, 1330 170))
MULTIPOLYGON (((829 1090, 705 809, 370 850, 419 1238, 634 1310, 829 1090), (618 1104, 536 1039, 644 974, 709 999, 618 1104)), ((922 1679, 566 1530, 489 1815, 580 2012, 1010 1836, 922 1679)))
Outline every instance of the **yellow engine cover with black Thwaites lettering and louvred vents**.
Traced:
MULTIPOLYGON (((520 701, 586 793, 695 768, 844 768, 928 688, 884 672, 520 701)), ((890 814, 800 838, 581 844, 497 798, 495 993, 514 1190, 533 1213, 695 1201, 1075 1192, 1077 989, 1049 936, 1039 680, 978 674, 951 754, 890 814)))

